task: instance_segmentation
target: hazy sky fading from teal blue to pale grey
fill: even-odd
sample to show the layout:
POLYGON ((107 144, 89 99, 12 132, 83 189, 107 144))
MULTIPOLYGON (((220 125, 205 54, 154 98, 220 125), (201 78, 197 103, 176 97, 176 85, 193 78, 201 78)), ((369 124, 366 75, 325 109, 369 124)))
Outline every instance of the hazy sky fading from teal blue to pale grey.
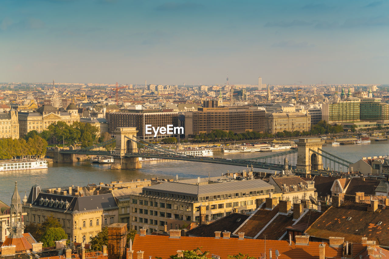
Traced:
POLYGON ((0 82, 389 83, 389 1, 1 0, 0 82))

